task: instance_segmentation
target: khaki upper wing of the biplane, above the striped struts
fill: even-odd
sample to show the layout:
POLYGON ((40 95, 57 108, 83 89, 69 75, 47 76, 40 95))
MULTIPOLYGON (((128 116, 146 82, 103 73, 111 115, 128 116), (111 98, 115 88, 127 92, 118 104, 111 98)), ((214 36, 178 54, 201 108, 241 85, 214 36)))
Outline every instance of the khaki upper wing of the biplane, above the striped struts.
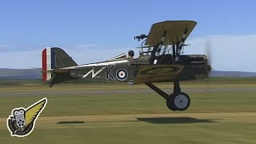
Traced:
POLYGON ((176 45, 182 41, 182 34, 187 29, 185 39, 190 35, 191 31, 196 26, 194 21, 165 21, 155 23, 146 39, 146 45, 154 46, 160 42, 162 34, 166 31, 166 40, 163 45, 176 45))

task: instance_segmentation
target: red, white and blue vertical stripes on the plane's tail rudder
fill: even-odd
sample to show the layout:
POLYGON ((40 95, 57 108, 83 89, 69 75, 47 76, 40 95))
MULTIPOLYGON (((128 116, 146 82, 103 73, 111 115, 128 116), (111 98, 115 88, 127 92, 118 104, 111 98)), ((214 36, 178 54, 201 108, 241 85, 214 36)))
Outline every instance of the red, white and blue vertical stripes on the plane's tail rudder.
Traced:
POLYGON ((44 82, 52 78, 51 70, 55 67, 55 50, 53 47, 46 47, 42 50, 42 80, 44 82))

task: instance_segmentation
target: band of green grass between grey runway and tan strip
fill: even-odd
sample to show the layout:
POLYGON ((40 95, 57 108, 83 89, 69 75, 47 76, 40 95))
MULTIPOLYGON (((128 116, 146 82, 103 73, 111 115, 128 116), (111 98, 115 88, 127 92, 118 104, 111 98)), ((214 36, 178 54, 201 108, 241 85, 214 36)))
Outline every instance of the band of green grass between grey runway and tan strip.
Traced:
MULTIPOLYGON (((190 93, 190 109, 182 113, 256 112, 255 96, 255 92, 190 93)), ((0 117, 8 116, 14 107, 26 108, 41 98, 45 97, 2 97, 0 117)), ((153 91, 152 94, 54 95, 46 98, 48 104, 42 116, 170 113, 166 101, 153 91)))

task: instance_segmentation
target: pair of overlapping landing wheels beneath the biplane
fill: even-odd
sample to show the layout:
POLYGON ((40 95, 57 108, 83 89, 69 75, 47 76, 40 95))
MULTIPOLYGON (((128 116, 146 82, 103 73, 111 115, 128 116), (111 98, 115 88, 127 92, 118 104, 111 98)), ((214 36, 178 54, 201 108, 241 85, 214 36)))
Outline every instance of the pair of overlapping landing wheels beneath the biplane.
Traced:
POLYGON ((190 97, 186 93, 170 94, 170 97, 166 99, 166 105, 170 110, 183 111, 190 106, 190 97))

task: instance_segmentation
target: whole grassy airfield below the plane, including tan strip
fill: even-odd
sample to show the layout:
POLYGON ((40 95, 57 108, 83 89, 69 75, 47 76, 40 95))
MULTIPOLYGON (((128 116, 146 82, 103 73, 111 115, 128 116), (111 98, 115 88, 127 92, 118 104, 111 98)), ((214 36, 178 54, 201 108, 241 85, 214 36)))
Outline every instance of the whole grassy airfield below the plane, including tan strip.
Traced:
MULTIPOLYGON (((184 82, 191 105, 184 112, 167 109, 153 90, 148 94, 111 94, 108 90, 144 90, 126 84, 1 86, 0 92, 37 90, 106 90, 106 94, 1 96, 1 143, 255 143, 256 82, 184 82), (217 89, 207 91, 207 89, 217 89), (222 90, 218 91, 218 88, 222 90), (48 104, 34 131, 25 138, 12 138, 6 118, 15 107, 27 107, 41 98, 48 104), (84 122, 62 123, 58 122, 84 122)), ((163 89, 171 88, 163 83, 163 89)))

